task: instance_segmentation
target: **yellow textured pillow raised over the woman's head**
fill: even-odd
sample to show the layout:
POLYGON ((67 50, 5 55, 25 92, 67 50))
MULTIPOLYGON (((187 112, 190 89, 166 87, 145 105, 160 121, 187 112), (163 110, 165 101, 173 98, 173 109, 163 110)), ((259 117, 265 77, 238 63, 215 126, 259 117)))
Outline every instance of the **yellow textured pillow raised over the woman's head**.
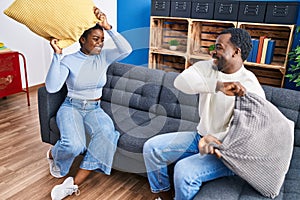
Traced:
POLYGON ((58 46, 65 48, 99 21, 94 5, 92 0, 15 0, 4 14, 47 40, 59 39, 58 46))

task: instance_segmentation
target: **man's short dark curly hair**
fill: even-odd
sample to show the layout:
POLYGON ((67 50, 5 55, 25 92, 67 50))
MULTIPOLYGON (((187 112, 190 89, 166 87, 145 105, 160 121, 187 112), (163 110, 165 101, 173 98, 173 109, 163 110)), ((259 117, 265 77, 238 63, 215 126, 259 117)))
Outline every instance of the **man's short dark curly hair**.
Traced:
POLYGON ((228 28, 223 30, 220 35, 227 33, 231 34, 231 43, 241 49, 242 59, 245 61, 252 49, 250 34, 245 29, 228 28))

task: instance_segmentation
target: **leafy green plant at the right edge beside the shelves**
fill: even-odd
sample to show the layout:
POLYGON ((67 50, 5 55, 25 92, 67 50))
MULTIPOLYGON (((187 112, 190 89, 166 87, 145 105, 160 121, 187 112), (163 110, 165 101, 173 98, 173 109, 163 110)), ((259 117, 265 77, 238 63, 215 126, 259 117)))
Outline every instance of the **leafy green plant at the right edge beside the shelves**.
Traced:
MULTIPOLYGON (((300 26, 296 29, 296 34, 299 37, 300 26)), ((297 38, 297 37, 296 37, 297 38)), ((300 40, 298 40, 297 46, 288 54, 290 67, 286 77, 290 82, 294 82, 296 87, 300 86, 300 40)))

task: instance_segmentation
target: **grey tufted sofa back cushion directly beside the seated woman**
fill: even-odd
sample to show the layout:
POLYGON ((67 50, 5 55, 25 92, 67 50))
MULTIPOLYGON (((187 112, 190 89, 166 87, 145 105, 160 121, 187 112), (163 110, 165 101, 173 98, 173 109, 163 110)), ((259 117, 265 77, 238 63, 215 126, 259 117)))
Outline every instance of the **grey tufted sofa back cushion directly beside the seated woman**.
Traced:
POLYGON ((164 73, 161 70, 113 63, 107 71, 102 100, 149 111, 158 103, 164 73))

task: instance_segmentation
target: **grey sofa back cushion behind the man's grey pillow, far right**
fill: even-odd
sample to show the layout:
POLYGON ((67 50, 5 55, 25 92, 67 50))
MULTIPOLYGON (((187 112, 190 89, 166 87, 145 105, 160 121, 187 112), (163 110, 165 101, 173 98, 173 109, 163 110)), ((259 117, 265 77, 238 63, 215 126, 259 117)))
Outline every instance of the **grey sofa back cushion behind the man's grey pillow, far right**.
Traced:
POLYGON ((263 89, 266 98, 295 123, 294 145, 300 147, 300 92, 265 85, 263 89))

